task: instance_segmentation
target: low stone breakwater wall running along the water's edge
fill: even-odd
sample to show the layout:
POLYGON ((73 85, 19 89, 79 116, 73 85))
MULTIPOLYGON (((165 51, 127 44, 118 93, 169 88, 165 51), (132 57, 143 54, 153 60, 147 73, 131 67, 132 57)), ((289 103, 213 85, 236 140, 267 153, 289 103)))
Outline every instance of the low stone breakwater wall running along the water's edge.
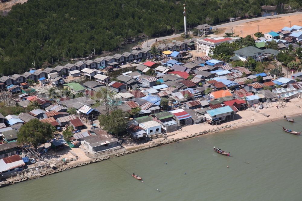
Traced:
MULTIPOLYGON (((252 121, 252 120, 250 120, 250 121, 252 121)), ((172 142, 177 142, 177 141, 180 141, 180 140, 183 140, 183 139, 193 138, 193 137, 204 135, 204 134, 207 134, 207 133, 218 132, 220 130, 231 128, 233 126, 238 126, 238 125, 237 124, 225 125, 225 126, 220 126, 220 127, 214 128, 214 129, 204 130, 204 131, 201 131, 199 133, 195 133, 195 134, 191 134, 191 135, 187 135, 187 136, 182 136, 180 138, 163 139, 160 142, 153 142, 151 145, 147 145, 147 146, 136 148, 136 149, 129 150, 129 151, 126 150, 124 152, 114 154, 114 155, 105 156, 105 157, 102 157, 102 158, 94 158, 93 160, 89 160, 89 161, 79 163, 79 164, 73 164, 73 165, 70 165, 70 166, 60 167, 60 168, 57 168, 57 169, 46 168, 46 169, 41 170, 40 173, 35 174, 35 175, 25 175, 25 174, 24 175, 22 174, 21 176, 18 175, 17 177, 13 177, 13 179, 11 179, 10 181, 0 182, 0 187, 5 187, 5 186, 11 185, 11 184, 19 183, 19 182, 26 181, 26 180, 36 179, 36 178, 39 178, 39 177, 44 177, 46 175, 59 173, 59 172, 65 171, 65 170, 81 167, 81 166, 84 166, 84 165, 87 165, 87 164, 104 161, 104 160, 110 159, 110 157, 114 158, 114 157, 124 156, 124 155, 127 155, 127 154, 131 154, 131 153, 135 153, 135 152, 144 150, 144 149, 169 144, 169 143, 172 143, 172 142)))

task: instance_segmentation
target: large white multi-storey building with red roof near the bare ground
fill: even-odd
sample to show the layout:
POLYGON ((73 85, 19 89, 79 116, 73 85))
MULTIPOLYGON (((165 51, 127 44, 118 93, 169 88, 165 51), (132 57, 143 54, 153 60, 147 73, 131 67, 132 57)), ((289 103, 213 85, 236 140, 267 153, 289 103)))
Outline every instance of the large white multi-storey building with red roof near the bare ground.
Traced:
POLYGON ((212 37, 212 38, 203 38, 196 40, 197 52, 205 53, 209 55, 210 49, 214 49, 220 43, 233 43, 236 40, 239 40, 239 37, 212 37))

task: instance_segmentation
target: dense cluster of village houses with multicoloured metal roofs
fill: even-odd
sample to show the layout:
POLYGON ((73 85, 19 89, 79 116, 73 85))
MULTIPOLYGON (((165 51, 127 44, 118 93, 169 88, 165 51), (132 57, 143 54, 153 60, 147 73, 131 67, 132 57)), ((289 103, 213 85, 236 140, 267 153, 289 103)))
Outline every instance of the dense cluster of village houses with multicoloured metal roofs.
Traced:
MULTIPOLYGON (((202 34, 210 32, 208 26, 198 28, 202 34)), ((230 59, 274 61, 282 49, 302 40, 301 30, 302 27, 293 26, 265 33, 256 39, 256 47, 236 50, 230 59), (263 48, 263 42, 271 40, 276 40, 279 50, 263 48)), ((292 72, 289 77, 268 71, 255 73, 244 66, 232 66, 210 57, 211 48, 236 40, 240 38, 186 39, 160 44, 156 47, 159 51, 156 57, 150 49, 135 48, 113 56, 2 76, 2 101, 10 100, 12 105, 22 108, 38 107, 19 114, 0 114, 0 178, 31 169, 43 161, 41 155, 66 148, 90 156, 124 150, 122 137, 104 131, 98 123, 98 116, 106 112, 104 99, 127 114, 130 121, 124 134, 140 144, 192 124, 216 126, 230 122, 239 119, 242 110, 264 108, 272 102, 300 96, 301 72, 292 72), (203 56, 192 57, 188 50, 195 47, 203 56), (125 67, 132 70, 108 74, 125 67), (68 94, 50 97, 41 92, 52 87, 68 94), (114 95, 98 96, 102 90, 114 95), (132 113, 133 110, 137 113, 132 113), (32 119, 50 123, 56 129, 47 148, 41 145, 35 149, 17 143, 18 130, 32 119), (66 142, 62 131, 68 127, 72 128, 73 136, 66 142)))

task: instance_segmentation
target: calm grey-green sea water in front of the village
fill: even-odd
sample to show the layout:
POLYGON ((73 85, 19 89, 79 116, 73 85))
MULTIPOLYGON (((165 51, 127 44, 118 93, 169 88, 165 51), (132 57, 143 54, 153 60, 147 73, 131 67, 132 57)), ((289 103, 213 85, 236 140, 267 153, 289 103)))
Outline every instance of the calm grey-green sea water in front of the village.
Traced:
POLYGON ((295 122, 250 124, 89 164, 1 188, 0 200, 302 200, 302 136, 282 131, 301 131, 302 118, 295 122))

